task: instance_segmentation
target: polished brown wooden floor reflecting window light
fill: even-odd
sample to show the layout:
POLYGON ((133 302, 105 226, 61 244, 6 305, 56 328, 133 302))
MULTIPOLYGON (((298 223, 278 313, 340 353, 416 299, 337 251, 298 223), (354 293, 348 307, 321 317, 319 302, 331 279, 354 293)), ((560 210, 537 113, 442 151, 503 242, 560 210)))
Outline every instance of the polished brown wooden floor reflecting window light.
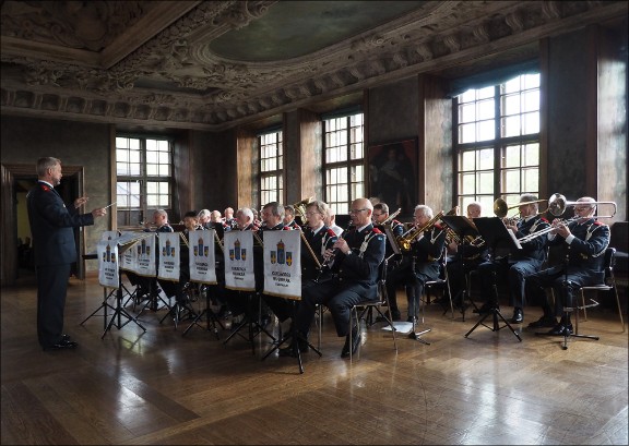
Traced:
POLYGON ((364 327, 353 363, 325 315, 323 355, 305 353, 299 374, 296 359, 261 360, 265 336, 253 353, 239 336, 224 345, 229 330, 182 337, 190 322, 161 324, 166 310, 142 314, 145 333, 131 323, 102 339, 102 313, 80 325, 103 300, 95 278, 70 280, 75 351, 39 349, 28 280, 1 299, 2 444, 628 444, 628 333, 613 306, 580 325, 600 340, 562 350, 562 337, 522 328, 537 309, 514 326, 519 342, 483 326, 465 338, 476 315, 430 304, 430 345, 401 334, 396 353, 390 332, 364 327))

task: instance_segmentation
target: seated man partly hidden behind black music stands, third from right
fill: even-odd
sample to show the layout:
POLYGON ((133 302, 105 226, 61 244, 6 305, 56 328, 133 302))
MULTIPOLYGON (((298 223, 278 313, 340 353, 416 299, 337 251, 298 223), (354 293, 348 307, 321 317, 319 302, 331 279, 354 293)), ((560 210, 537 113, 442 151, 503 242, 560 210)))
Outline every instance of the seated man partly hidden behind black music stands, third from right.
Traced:
MULTIPOLYGON (((467 204, 466 216, 470 220, 480 217, 483 207, 478 202, 467 204)), ((464 302, 463 290, 466 287, 465 277, 467 274, 484 262, 489 260, 489 248, 483 239, 474 240, 448 240, 448 279, 450 280, 450 292, 452 293, 452 304, 462 308, 464 302)))

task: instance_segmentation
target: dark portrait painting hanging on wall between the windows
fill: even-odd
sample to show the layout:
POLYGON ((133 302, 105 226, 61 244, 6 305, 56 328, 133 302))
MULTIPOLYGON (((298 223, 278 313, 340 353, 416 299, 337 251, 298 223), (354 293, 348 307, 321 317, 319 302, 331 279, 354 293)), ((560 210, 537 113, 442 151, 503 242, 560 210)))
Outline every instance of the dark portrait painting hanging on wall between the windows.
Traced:
POLYGON ((369 197, 393 214, 411 216, 417 204, 417 140, 375 145, 368 153, 369 197))

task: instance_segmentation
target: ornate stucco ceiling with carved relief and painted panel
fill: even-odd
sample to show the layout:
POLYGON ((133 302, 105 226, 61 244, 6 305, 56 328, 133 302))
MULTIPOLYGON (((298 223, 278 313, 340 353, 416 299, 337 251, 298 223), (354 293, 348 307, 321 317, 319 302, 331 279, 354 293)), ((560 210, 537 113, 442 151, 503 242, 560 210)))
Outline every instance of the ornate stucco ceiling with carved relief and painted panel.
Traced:
POLYGON ((3 1, 2 113, 223 130, 533 58, 626 1, 3 1), (450 70, 450 71, 449 71, 450 70))

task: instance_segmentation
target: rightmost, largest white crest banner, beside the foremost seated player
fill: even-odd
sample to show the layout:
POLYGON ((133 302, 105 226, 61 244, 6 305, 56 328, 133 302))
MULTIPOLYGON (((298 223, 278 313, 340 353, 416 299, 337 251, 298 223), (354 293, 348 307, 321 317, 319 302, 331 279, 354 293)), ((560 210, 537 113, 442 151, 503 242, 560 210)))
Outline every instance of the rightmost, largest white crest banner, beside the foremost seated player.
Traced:
POLYGON ((264 231, 264 294, 301 299, 300 231, 264 231))

